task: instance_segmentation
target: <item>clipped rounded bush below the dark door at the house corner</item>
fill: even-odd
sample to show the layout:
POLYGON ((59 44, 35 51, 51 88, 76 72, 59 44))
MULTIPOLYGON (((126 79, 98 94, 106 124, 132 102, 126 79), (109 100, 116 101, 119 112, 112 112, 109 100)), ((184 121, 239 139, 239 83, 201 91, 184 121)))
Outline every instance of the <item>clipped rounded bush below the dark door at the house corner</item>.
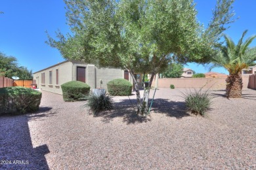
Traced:
POLYGON ((64 101, 81 101, 87 98, 90 86, 84 82, 70 81, 61 85, 64 101))

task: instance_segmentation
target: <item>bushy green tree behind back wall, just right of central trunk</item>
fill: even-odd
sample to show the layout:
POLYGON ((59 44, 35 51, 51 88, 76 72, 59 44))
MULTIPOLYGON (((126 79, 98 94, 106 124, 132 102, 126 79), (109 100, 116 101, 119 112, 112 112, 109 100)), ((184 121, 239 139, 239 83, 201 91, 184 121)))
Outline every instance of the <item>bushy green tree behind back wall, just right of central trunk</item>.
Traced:
POLYGON ((179 63, 171 63, 168 69, 163 73, 165 78, 180 78, 183 73, 183 65, 179 63))

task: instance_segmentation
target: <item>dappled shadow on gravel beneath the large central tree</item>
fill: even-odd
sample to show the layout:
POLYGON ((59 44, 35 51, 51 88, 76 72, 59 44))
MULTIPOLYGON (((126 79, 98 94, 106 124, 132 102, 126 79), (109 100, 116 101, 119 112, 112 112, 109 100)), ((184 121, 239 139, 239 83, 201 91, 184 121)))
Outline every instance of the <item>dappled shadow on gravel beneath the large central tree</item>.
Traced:
MULTIPOLYGON (((151 100, 150 100, 151 102, 151 100)), ((151 121, 149 116, 138 116, 136 109, 137 99, 123 99, 116 102, 114 109, 108 112, 100 112, 95 117, 102 117, 102 122, 110 122, 114 118, 123 118, 123 122, 127 124, 135 124, 151 121)), ((177 119, 184 116, 190 116, 186 112, 186 105, 181 101, 169 101, 167 99, 154 99, 150 113, 156 112, 166 114, 167 116, 175 117, 177 119)))

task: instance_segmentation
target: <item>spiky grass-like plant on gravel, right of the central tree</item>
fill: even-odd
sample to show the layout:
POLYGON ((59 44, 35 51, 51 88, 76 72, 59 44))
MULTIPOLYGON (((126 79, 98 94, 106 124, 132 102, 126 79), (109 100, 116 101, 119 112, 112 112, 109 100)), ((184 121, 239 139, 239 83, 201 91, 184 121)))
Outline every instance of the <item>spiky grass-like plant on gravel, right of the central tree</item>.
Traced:
POLYGON ((193 114, 201 114, 205 116, 205 112, 209 110, 211 105, 211 97, 208 91, 200 90, 190 90, 189 92, 183 93, 183 98, 185 99, 186 107, 193 114))

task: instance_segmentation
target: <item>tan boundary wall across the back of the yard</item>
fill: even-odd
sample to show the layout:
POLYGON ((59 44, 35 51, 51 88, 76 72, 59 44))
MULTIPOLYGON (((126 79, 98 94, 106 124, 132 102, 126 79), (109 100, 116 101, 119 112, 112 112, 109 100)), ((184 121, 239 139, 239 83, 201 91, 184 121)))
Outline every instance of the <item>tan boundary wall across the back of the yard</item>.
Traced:
MULTIPOLYGON (((226 78, 158 78, 159 88, 170 88, 173 84, 175 88, 212 88, 225 89, 226 78)), ((249 82, 249 75, 243 75, 243 88, 247 88, 249 82)), ((155 85, 153 80, 152 86, 155 85)))

